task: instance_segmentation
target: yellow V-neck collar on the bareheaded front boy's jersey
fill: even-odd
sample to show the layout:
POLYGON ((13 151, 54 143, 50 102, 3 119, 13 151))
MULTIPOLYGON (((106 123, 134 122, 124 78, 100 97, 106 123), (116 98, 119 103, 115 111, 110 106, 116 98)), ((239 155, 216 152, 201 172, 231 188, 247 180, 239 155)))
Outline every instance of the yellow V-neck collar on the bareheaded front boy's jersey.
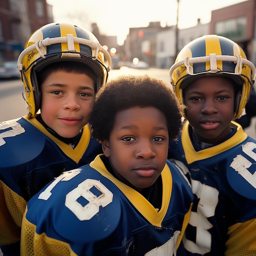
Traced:
POLYGON ((111 175, 101 161, 100 156, 101 155, 98 155, 94 161, 90 163, 90 166, 101 173, 101 175, 111 180, 150 223, 161 227, 162 220, 164 219, 164 216, 168 210, 172 191, 172 176, 168 166, 165 165, 161 173, 163 185, 162 207, 160 211, 158 211, 158 209, 155 209, 153 205, 150 204, 146 198, 144 198, 143 195, 132 189, 130 186, 127 186, 123 182, 120 182, 113 175, 111 175))

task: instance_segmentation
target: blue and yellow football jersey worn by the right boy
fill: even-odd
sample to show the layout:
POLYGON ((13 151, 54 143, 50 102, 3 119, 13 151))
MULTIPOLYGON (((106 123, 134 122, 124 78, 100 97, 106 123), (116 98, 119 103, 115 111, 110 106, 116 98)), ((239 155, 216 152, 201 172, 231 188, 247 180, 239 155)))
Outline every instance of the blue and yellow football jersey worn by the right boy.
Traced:
POLYGON ((232 126, 230 138, 196 151, 186 121, 170 144, 197 198, 183 238, 188 255, 256 255, 256 141, 232 126))

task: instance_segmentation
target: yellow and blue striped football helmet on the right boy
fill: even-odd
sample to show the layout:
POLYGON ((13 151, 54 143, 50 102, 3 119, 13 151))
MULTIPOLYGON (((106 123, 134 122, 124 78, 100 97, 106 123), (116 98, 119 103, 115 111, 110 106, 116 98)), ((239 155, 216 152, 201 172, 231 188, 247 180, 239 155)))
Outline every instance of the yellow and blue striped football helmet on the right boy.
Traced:
POLYGON ((177 55, 170 71, 171 84, 182 104, 182 90, 196 79, 225 76, 238 86, 234 119, 245 114, 245 105, 256 77, 254 64, 247 60, 243 49, 223 36, 207 35, 191 41, 177 55))

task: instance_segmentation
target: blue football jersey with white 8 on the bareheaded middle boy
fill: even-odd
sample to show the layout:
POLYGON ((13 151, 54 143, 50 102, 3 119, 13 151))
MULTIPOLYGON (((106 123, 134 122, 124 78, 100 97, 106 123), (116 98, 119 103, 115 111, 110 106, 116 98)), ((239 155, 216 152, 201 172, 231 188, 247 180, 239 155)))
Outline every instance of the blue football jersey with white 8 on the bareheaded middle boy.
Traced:
POLYGON ((63 173, 27 204, 22 255, 176 255, 193 193, 171 162, 159 178, 162 206, 155 209, 112 176, 101 155, 63 173))

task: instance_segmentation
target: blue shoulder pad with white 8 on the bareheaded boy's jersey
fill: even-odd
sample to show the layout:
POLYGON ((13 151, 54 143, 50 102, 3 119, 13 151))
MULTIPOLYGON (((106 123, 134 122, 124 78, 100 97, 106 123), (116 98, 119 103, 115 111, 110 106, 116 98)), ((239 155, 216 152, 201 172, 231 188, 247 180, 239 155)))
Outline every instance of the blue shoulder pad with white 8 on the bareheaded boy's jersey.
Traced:
POLYGON ((117 191, 110 180, 88 164, 63 173, 45 186, 28 202, 26 218, 37 226, 39 234, 45 232, 58 240, 65 238, 81 246, 104 240, 118 227, 121 229, 122 204, 117 191), (90 230, 86 236, 85 230, 90 230))

